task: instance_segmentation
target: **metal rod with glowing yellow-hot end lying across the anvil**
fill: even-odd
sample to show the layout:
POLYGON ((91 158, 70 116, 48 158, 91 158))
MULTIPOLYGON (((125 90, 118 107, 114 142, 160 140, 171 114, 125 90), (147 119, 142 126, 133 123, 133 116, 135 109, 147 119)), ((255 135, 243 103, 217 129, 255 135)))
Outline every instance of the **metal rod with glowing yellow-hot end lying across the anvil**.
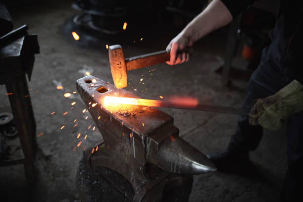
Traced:
POLYGON ((199 111, 240 114, 240 115, 248 115, 250 112, 250 109, 198 104, 198 101, 194 99, 189 101, 182 101, 182 100, 157 101, 157 100, 146 100, 146 99, 137 99, 137 98, 121 98, 121 97, 105 96, 103 102, 105 106, 107 105, 112 106, 113 104, 131 104, 131 105, 142 105, 142 106, 191 109, 191 110, 199 110, 199 111))

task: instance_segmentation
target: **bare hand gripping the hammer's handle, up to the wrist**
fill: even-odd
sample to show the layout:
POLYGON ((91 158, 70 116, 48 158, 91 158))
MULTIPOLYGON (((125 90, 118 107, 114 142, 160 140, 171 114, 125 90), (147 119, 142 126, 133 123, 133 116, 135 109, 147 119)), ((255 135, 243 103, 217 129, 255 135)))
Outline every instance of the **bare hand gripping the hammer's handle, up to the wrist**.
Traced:
POLYGON ((174 65, 188 61, 190 57, 189 53, 183 52, 181 54, 177 53, 177 51, 192 45, 193 42, 190 40, 190 37, 185 36, 184 32, 178 34, 166 47, 166 51, 170 51, 170 61, 167 61, 166 63, 169 65, 174 65))

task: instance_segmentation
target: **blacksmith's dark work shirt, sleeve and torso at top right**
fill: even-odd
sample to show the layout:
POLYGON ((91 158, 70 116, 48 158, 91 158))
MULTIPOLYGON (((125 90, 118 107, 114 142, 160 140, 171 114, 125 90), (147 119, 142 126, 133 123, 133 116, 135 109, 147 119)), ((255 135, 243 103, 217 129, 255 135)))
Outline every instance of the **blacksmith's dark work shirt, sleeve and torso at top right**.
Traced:
MULTIPOLYGON (((257 0, 221 0, 235 18, 257 0)), ((303 0, 277 0, 279 12, 262 59, 303 84, 303 0)))

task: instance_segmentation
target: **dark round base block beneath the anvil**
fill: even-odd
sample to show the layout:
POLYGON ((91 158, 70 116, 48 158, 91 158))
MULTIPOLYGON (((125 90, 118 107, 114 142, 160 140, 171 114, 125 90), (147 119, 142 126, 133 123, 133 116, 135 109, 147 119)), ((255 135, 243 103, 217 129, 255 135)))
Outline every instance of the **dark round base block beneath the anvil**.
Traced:
MULTIPOLYGON (((106 167, 87 165, 87 157, 79 163, 76 187, 82 202, 133 202, 135 197, 131 184, 119 173, 106 167)), ((98 153, 94 160, 105 158, 98 153)), ((107 156, 108 157, 108 156, 107 156)), ((90 157, 89 157, 90 158, 90 157)), ((141 202, 188 202, 192 191, 193 176, 169 173, 153 165, 147 173, 153 175, 154 186, 144 193, 141 202)))

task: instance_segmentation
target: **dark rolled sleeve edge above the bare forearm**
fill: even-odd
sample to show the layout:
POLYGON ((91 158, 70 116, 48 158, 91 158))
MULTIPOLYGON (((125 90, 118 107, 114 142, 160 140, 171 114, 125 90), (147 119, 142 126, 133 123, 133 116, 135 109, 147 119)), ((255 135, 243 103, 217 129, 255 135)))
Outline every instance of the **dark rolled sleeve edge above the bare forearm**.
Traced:
POLYGON ((237 17, 248 6, 252 5, 257 0, 221 0, 227 7, 233 18, 237 17))

